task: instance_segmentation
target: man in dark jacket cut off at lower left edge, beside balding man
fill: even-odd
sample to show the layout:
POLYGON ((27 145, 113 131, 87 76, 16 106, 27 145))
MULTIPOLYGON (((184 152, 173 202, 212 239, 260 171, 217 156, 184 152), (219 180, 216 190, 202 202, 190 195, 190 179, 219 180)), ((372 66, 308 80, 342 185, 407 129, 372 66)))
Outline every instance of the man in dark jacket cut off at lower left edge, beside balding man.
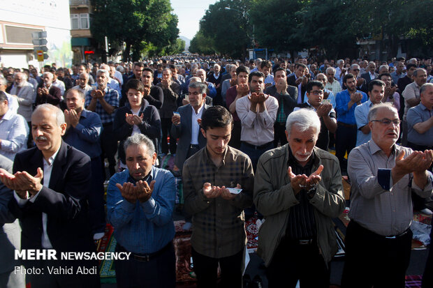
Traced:
MULTIPOLYGON (((12 172, 13 162, 0 155, 0 168, 12 172)), ((15 249, 21 248, 21 227, 15 216, 8 209, 8 202, 13 197, 13 191, 0 182, 0 287, 24 288, 24 275, 14 273, 15 266, 20 262, 15 260, 15 249)))

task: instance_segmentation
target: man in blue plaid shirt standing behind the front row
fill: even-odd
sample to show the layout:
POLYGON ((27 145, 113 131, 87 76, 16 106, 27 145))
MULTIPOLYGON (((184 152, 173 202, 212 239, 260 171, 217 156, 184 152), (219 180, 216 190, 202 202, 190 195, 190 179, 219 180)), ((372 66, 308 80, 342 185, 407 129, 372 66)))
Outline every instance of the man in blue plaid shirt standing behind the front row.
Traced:
POLYGON ((91 112, 101 117, 103 131, 101 132, 102 160, 108 159, 110 176, 115 174, 115 154, 117 151, 117 137, 112 132, 112 123, 115 119, 115 109, 119 107, 119 93, 107 86, 110 73, 100 69, 96 72, 97 87, 87 92, 85 106, 91 112))

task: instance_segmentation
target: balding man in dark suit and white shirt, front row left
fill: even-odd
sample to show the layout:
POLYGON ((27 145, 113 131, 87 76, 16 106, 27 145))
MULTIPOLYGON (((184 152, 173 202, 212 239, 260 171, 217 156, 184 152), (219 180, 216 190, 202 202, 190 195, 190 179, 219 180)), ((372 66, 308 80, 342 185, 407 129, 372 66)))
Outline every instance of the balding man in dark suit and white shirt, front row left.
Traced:
MULTIPOLYGON (((18 153, 14 175, 0 169, 0 180, 15 190, 8 204, 22 225, 22 249, 54 249, 57 260, 24 262, 26 268, 73 267, 73 274, 27 274, 31 287, 99 287, 96 274, 76 275, 78 266, 96 261, 65 261, 60 252, 94 252, 87 194, 91 181, 89 156, 64 143, 64 114, 50 104, 39 105, 31 116, 36 147, 18 153), (35 175, 35 176, 33 176, 35 175)), ((47 268, 45 268, 47 270, 47 268)))

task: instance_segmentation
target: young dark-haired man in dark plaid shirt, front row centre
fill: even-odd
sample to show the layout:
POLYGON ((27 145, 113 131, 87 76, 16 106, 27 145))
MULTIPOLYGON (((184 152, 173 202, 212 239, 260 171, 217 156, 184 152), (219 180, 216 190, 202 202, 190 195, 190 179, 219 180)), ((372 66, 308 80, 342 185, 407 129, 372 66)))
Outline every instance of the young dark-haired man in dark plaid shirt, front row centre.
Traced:
POLYGON ((242 287, 247 235, 243 209, 251 206, 254 172, 249 157, 228 146, 233 117, 224 107, 203 112, 205 148, 184 162, 185 211, 193 215, 191 254, 197 287, 242 287), (233 188, 242 189, 241 192, 233 188))

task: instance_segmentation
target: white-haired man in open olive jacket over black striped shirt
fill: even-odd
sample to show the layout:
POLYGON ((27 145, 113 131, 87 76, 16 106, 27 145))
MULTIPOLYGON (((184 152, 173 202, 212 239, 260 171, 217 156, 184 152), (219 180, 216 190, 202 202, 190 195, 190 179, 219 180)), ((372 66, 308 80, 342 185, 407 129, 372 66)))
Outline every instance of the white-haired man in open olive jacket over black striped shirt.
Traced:
POLYGON ((258 255, 269 287, 329 287, 337 252, 332 218, 344 210, 338 159, 315 147, 321 121, 312 109, 288 115, 288 144, 263 153, 254 177, 254 204, 266 221, 258 255))

